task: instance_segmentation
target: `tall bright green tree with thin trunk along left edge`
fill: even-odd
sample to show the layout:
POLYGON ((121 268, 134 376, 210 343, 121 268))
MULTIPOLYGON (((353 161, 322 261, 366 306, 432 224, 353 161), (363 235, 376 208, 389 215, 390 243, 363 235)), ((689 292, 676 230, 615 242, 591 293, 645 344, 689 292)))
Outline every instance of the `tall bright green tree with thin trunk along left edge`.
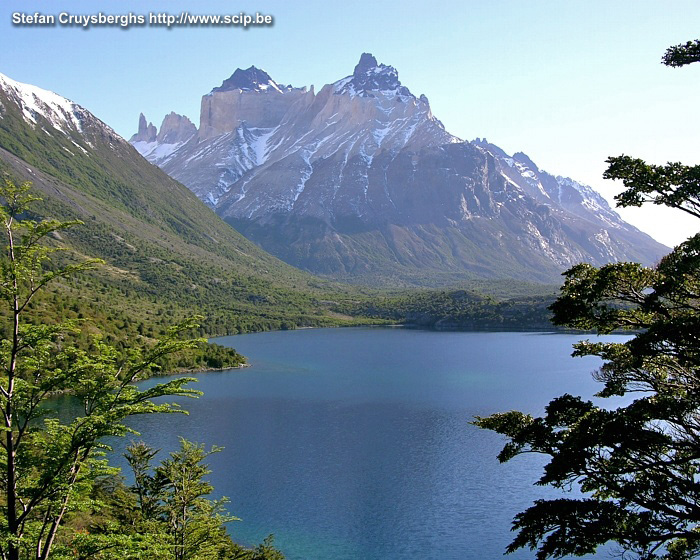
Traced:
POLYGON ((163 356, 200 341, 180 340, 194 326, 190 322, 149 348, 118 352, 99 338, 88 348, 73 344, 75 321, 32 324, 31 305, 47 286, 100 261, 52 262, 61 250, 58 232, 80 222, 29 219, 38 198, 28 183, 5 180, 0 198, 6 244, 0 259, 0 558, 45 560, 81 490, 106 468, 103 438, 127 433, 124 420, 135 414, 176 410, 156 404, 156 397, 198 394, 185 388, 190 378, 145 390, 133 382, 148 376, 163 356), (57 393, 73 395, 83 413, 69 421, 52 414, 48 402, 57 393))

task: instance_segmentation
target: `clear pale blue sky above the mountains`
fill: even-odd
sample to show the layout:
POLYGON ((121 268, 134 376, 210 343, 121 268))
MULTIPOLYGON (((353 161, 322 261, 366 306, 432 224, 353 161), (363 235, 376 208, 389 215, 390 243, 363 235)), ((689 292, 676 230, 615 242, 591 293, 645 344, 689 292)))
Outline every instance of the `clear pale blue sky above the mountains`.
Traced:
MULTIPOLYGON (((697 0, 2 0, 0 73, 55 91, 129 138, 139 113, 199 125, 202 95, 255 65, 316 90, 363 52, 394 66, 455 136, 525 152, 591 185, 609 156, 700 164, 700 64, 663 66, 667 47, 700 38, 697 0), (14 25, 14 13, 271 15, 270 26, 14 25)), ((619 210, 667 245, 700 229, 659 207, 619 210)))

